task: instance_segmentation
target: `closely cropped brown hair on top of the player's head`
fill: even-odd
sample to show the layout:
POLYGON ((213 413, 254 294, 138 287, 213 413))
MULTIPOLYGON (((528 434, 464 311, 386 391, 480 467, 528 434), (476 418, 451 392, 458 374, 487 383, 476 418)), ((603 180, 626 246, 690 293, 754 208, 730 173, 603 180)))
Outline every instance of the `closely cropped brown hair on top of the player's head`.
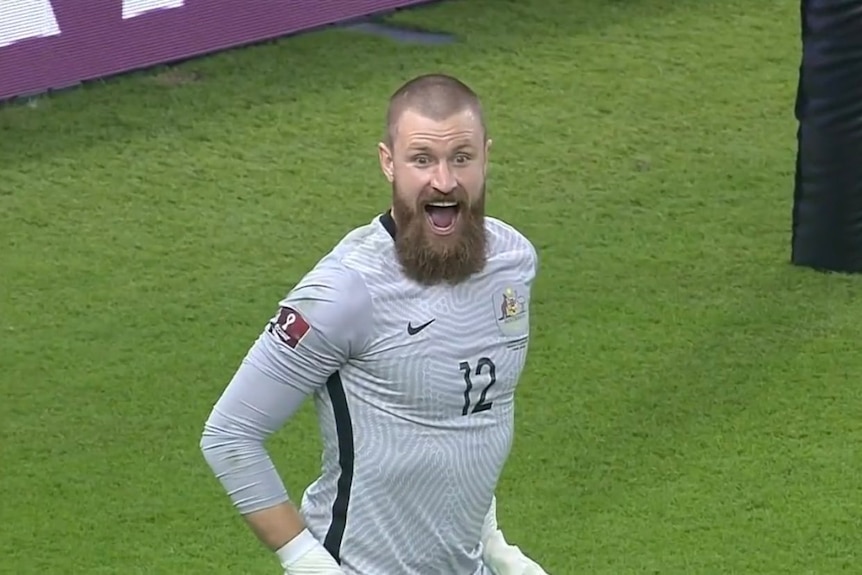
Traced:
POLYGON ((485 121, 482 105, 473 90, 452 76, 426 74, 409 80, 389 99, 386 114, 386 143, 392 146, 398 133, 398 122, 406 111, 412 111, 431 120, 442 121, 464 112, 472 112, 482 125, 485 121))

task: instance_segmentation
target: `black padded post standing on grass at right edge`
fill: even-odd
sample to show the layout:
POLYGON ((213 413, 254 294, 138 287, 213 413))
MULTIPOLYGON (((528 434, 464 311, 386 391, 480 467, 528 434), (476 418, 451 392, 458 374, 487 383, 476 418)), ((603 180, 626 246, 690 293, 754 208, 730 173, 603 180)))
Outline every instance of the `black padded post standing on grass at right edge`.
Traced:
POLYGON ((862 0, 802 0, 794 264, 862 272, 862 0))

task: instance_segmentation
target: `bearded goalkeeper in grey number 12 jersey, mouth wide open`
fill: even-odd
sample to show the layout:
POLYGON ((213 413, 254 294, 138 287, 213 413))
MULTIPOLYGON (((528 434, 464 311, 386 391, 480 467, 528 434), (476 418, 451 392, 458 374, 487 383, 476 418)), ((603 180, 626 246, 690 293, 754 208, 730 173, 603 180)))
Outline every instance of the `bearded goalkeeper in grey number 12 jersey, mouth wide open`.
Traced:
POLYGON ((391 98, 378 145, 391 208, 280 302, 201 449, 295 575, 542 575, 497 527, 529 339, 533 245, 485 216, 488 138, 446 75, 391 98), (307 397, 323 437, 297 508, 264 441, 307 397))

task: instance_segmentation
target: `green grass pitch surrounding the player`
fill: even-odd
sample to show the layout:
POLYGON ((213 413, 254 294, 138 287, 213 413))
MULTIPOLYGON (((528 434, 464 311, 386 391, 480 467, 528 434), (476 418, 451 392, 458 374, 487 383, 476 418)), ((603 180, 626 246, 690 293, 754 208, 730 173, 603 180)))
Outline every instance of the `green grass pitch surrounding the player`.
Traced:
MULTIPOLYGON (((788 264, 799 8, 472 0, 0 109, 0 572, 276 573, 210 474, 278 299, 387 207, 387 96, 454 73, 536 244, 499 486, 552 575, 858 573, 862 283, 788 264)), ((310 406, 271 443, 294 497, 310 406)))

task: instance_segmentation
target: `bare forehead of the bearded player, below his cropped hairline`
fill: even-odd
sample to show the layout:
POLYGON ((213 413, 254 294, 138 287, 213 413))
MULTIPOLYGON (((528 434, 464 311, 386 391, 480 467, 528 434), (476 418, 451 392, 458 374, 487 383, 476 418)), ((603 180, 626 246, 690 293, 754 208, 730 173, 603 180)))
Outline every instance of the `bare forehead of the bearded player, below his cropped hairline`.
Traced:
POLYGON ((480 147, 483 139, 482 120, 473 110, 457 112, 436 120, 415 110, 405 110, 395 131, 398 148, 450 147, 470 144, 480 147))

